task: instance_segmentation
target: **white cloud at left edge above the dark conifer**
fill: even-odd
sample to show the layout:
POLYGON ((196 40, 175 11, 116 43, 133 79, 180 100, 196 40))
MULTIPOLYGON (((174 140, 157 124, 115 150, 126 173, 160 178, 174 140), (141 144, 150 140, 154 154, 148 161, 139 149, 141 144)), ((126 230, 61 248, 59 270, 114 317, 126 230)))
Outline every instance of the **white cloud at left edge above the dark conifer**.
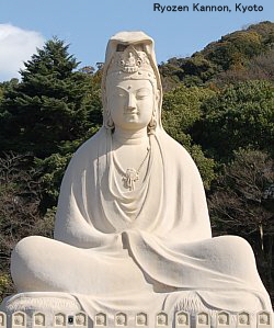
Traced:
POLYGON ((43 47, 44 37, 34 31, 26 31, 11 24, 0 24, 0 81, 19 78, 19 69, 43 47))

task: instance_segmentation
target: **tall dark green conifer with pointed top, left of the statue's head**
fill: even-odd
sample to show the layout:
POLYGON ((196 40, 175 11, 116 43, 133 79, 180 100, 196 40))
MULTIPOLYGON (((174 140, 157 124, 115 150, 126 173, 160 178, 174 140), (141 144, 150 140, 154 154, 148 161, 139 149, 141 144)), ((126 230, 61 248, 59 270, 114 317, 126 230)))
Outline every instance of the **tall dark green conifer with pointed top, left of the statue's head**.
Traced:
POLYGON ((76 71, 79 63, 68 47, 58 38, 48 41, 25 63, 22 82, 7 88, 0 106, 1 149, 45 158, 62 140, 82 137, 98 124, 90 121, 92 77, 76 71))

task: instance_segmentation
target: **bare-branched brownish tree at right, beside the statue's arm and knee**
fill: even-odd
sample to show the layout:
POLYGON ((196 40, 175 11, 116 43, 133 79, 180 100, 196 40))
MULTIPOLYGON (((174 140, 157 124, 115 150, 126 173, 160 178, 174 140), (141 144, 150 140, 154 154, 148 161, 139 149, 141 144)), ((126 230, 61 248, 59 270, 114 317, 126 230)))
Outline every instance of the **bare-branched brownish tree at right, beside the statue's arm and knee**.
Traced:
POLYGON ((249 240, 266 286, 273 290, 274 160, 263 151, 239 149, 209 197, 215 235, 249 240))

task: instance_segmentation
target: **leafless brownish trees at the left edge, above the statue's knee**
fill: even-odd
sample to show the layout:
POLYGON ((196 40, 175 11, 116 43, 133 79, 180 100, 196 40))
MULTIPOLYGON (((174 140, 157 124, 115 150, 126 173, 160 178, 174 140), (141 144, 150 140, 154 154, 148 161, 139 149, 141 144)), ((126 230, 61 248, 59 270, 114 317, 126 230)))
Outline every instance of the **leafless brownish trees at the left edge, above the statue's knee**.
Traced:
POLYGON ((13 152, 0 158, 0 298, 14 292, 10 256, 23 237, 53 237, 53 212, 42 216, 38 172, 28 167, 27 156, 13 152))

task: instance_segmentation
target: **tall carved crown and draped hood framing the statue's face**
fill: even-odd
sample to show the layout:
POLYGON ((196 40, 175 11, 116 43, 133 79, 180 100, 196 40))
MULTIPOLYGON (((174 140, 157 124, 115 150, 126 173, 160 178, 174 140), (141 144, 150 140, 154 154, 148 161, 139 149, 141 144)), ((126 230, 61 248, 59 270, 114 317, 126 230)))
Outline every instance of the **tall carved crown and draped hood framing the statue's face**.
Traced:
POLYGON ((102 78, 104 126, 113 127, 106 99, 106 79, 150 80, 158 90, 158 108, 153 109, 150 129, 161 127, 162 86, 158 70, 153 39, 144 32, 121 32, 109 41, 102 78))

